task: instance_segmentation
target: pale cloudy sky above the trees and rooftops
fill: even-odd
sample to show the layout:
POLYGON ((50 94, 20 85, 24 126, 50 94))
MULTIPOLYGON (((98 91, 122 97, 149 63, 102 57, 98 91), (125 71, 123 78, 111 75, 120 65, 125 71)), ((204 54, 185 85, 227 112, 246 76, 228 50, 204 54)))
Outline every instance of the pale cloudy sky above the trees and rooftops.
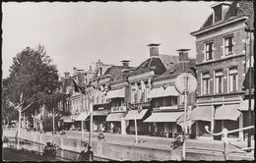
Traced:
POLYGON ((139 66, 149 58, 147 44, 160 43, 160 54, 189 48, 216 2, 4 2, 2 72, 9 77, 13 57, 26 47, 45 47, 60 76, 73 67, 88 70, 96 61, 139 66))

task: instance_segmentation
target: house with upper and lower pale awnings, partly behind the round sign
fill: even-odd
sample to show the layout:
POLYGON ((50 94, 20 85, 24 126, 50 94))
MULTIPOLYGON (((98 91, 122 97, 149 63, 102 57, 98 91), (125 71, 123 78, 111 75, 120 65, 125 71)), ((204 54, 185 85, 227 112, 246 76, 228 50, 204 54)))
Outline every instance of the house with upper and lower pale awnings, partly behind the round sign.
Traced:
MULTIPOLYGON (((166 70, 162 75, 153 79, 152 89, 149 95, 152 106, 152 114, 145 123, 150 123, 151 135, 174 137, 182 133, 181 121, 177 120, 184 114, 184 96, 175 89, 175 80, 181 73, 195 72, 195 59, 188 58, 187 50, 179 52, 179 62, 166 70)), ((195 94, 189 95, 188 105, 194 104, 195 94)))

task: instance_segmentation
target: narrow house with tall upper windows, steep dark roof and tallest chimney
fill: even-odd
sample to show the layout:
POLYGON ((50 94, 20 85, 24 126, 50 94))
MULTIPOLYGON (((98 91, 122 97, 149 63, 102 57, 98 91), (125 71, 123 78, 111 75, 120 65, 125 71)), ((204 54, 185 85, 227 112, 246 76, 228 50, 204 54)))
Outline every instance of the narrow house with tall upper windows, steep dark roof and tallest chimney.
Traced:
POLYGON ((124 119, 128 124, 126 130, 128 134, 135 133, 135 119, 138 134, 148 135, 152 133, 150 124, 144 123, 144 120, 150 116, 152 110, 149 95, 153 79, 178 61, 178 56, 160 55, 159 45, 149 44, 150 58, 127 73, 129 84, 129 93, 126 96, 128 112, 124 119))

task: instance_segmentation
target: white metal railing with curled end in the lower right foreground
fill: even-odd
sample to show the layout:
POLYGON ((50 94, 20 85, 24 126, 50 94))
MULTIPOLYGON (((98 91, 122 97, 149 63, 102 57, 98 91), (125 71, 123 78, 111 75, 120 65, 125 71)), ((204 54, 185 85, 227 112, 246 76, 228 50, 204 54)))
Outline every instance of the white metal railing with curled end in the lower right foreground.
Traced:
POLYGON ((245 131, 245 130, 250 130, 250 129, 254 129, 254 126, 249 126, 249 127, 245 127, 245 128, 241 128, 241 129, 236 129, 236 130, 233 130, 233 131, 228 131, 227 129, 224 128, 224 129, 223 129, 223 132, 217 133, 217 134, 211 133, 211 132, 209 131, 209 127, 208 127, 208 126, 205 126, 205 129, 206 129, 207 133, 209 133, 209 134, 212 135, 212 136, 223 136, 222 140, 224 141, 224 160, 227 160, 227 159, 228 159, 228 153, 237 152, 237 151, 251 152, 251 150, 254 150, 253 147, 241 148, 241 147, 239 147, 239 146, 236 146, 236 145, 230 143, 230 142, 228 141, 228 139, 227 139, 227 135, 228 135, 228 134, 236 133, 236 132, 240 132, 240 131, 245 131), (229 144, 231 144, 231 145, 233 145, 233 146, 236 146, 236 147, 238 147, 239 149, 228 151, 227 143, 229 143, 229 144))

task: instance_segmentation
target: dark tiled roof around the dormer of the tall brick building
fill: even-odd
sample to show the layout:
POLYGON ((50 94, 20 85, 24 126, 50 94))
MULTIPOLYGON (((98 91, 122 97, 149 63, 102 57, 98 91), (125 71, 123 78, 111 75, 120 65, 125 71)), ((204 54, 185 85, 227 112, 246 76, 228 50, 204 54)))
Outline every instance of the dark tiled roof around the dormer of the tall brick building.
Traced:
MULTIPOLYGON (((245 1, 245 0, 233 1, 230 4, 229 9, 224 16, 223 22, 213 24, 213 14, 211 14, 207 18, 207 20, 203 24, 203 26, 200 27, 200 29, 198 29, 197 31, 200 31, 200 30, 203 30, 203 29, 206 29, 209 27, 214 27, 216 25, 221 25, 225 22, 228 22, 228 21, 236 19, 236 18, 240 18, 242 16, 248 17, 248 19, 246 20, 246 23, 249 27, 253 28, 254 13, 253 13, 253 2, 252 1, 245 1)), ((196 31, 194 31, 194 32, 196 32, 196 31)))

